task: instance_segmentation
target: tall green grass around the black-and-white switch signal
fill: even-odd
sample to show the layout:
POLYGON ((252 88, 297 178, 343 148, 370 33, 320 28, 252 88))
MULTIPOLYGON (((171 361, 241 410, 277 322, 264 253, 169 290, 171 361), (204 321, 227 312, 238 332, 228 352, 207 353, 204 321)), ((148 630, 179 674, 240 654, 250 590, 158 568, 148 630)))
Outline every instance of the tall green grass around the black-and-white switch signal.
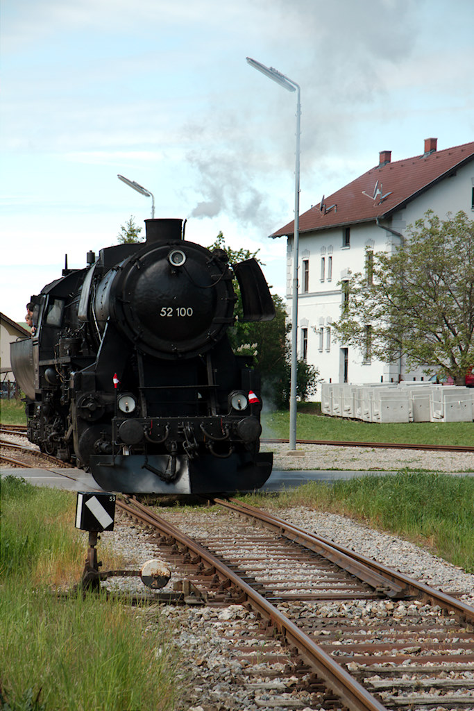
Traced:
POLYGON ((87 534, 74 519, 71 493, 1 479, 0 708, 173 709, 178 656, 168 621, 156 613, 149 629, 144 609, 120 599, 52 593, 82 572, 87 534))

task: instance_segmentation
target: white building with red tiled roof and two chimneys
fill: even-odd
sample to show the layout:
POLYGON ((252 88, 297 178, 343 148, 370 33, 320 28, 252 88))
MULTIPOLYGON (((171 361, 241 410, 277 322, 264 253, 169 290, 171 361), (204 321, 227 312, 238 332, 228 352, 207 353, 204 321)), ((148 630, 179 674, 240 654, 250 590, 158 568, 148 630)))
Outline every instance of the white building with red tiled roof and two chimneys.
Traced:
MULTIPOLYGON (((379 164, 300 216, 298 249, 298 358, 319 369, 326 383, 380 383, 421 378, 404 362, 385 364, 335 341, 332 324, 340 317, 344 291, 338 282, 364 272, 366 250, 390 252, 404 230, 433 210, 441 219, 459 210, 474 211, 474 142, 391 161, 381 151, 379 164)), ((291 319, 293 274, 291 222, 271 237, 288 238, 286 297, 291 319)))

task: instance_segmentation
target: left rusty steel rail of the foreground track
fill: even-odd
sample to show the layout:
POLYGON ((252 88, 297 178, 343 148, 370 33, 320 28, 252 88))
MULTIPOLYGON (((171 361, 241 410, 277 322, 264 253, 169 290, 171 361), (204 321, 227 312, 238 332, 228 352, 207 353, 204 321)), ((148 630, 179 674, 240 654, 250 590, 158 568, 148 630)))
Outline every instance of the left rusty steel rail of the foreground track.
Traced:
POLYGON ((230 567, 227 567, 219 558, 200 545, 178 528, 159 517, 148 508, 136 500, 129 499, 130 503, 124 503, 121 498, 117 498, 117 506, 122 508, 131 516, 137 517, 149 523, 153 528, 159 528, 166 535, 170 535, 176 541, 193 551, 208 565, 220 572, 222 577, 229 579, 232 584, 238 587, 245 595, 249 604, 266 619, 271 621, 284 636, 287 643, 298 648, 299 653, 305 661, 316 670, 318 675, 325 681, 328 687, 340 697, 350 711, 387 711, 372 694, 370 694, 360 683, 336 663, 327 653, 325 653, 314 641, 296 626, 291 620, 282 614, 261 594, 244 582, 230 567), (136 508, 134 508, 136 507, 136 508), (137 511, 138 509, 138 511, 137 511))

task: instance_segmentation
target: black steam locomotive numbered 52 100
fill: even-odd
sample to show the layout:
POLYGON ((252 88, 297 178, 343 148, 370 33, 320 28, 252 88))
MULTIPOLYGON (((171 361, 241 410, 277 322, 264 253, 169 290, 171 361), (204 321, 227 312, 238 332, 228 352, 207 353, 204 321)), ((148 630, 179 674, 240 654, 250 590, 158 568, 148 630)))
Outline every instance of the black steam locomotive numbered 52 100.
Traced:
POLYGON ((12 344, 28 439, 91 471, 107 491, 217 493, 262 486, 259 375, 235 355, 244 319, 274 306, 256 260, 227 263, 184 240, 182 220, 145 220, 146 242, 87 253, 32 296, 35 333, 12 344))

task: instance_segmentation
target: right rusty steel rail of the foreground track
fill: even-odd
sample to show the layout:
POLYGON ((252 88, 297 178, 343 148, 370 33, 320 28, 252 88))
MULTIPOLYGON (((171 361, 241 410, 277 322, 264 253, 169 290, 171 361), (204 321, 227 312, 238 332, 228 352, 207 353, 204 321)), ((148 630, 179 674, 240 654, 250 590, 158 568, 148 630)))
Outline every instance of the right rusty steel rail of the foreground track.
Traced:
MULTIPOLYGON (((429 587, 429 585, 419 582, 418 580, 414 580, 408 577, 407 575, 388 567, 387 565, 383 565, 382 563, 376 562, 375 560, 371 560, 370 558, 365 557, 365 555, 361 555, 360 553, 350 550, 349 548, 346 548, 343 545, 339 545, 334 541, 328 541, 326 538, 323 538, 322 536, 319 536, 316 533, 310 533, 309 531, 303 530, 302 528, 298 528, 298 526, 289 524, 288 522, 274 515, 266 514, 259 508, 251 506, 249 503, 243 503, 242 501, 237 501, 237 499, 233 498, 230 498, 232 506, 229 502, 221 501, 217 498, 215 498, 214 501, 216 503, 219 503, 220 506, 228 506, 228 508, 233 508, 234 510, 238 510, 240 508, 242 510, 242 513, 245 513, 245 515, 251 515, 254 518, 258 518, 259 520, 262 520, 262 523, 265 523, 268 517, 268 525, 271 525, 272 528, 282 531, 292 530, 298 534, 298 537, 301 537, 301 540, 308 539, 310 541, 319 542, 321 543, 321 545, 329 545, 329 547, 332 547, 334 550, 338 551, 340 555, 347 555, 352 560, 358 561, 362 565, 383 575, 384 579, 388 578, 401 585, 402 587, 404 587, 405 591, 415 593, 416 595, 421 595, 424 599, 431 602, 431 604, 439 605, 443 609, 451 609, 455 611, 459 619, 474 622, 474 607, 468 605, 465 602, 462 602, 461 600, 456 599, 455 597, 451 597, 451 595, 446 594, 446 592, 442 592, 441 590, 435 590, 434 588, 429 587), (271 521, 273 523, 271 523, 271 521)), ((338 565, 340 564, 338 563, 338 565)))

